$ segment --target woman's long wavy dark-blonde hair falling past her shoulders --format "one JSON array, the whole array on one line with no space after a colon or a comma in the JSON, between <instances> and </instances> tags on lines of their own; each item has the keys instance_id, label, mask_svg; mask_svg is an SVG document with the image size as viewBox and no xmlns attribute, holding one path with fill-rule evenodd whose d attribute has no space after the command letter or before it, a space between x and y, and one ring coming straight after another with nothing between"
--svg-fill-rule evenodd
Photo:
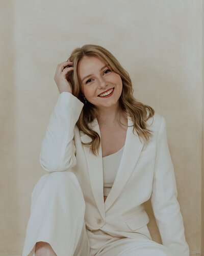
<instances>
[{"instance_id":1,"label":"woman's long wavy dark-blonde hair falling past her shoulders","mask_svg":"<svg viewBox=\"0 0 204 256\"><path fill-rule=\"evenodd\" d=\"M103 61L106 65L109 65L110 70L119 74L122 80L122 93L119 98L120 110L133 120L133 132L134 129L138 133L139 138L148 140L152 136L150 130L147 129L146 121L154 116L155 111L148 105L137 101L133 96L133 87L129 74L122 68L118 60L108 50L97 45L84 45L81 48L76 48L72 51L69 61L73 63L73 70L69 71L69 80L72 84L72 94L84 103L82 112L77 121L79 130L91 137L91 142L82 142L84 145L91 145L90 150L92 154L98 154L100 137L97 132L93 131L89 126L89 123L97 118L98 113L96 107L89 101L85 102L84 94L80 87L80 78L77 73L78 63L84 56L95 56ZM147 111L149 115L147 117ZM118 120L120 122L119 116Z\"/></svg>"}]
</instances>

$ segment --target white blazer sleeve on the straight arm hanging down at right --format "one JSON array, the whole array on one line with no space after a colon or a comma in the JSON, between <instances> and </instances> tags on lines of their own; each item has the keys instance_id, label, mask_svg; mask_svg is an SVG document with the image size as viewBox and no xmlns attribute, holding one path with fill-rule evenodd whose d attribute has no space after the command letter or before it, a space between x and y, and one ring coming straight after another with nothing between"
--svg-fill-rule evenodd
<instances>
[{"instance_id":1,"label":"white blazer sleeve on the straight arm hanging down at right","mask_svg":"<svg viewBox=\"0 0 204 256\"><path fill-rule=\"evenodd\" d=\"M167 142L166 122L164 117L161 118L161 126L157 137L151 205L163 245L172 251L172 255L189 256L183 218L177 201L177 188Z\"/></svg>"}]
</instances>

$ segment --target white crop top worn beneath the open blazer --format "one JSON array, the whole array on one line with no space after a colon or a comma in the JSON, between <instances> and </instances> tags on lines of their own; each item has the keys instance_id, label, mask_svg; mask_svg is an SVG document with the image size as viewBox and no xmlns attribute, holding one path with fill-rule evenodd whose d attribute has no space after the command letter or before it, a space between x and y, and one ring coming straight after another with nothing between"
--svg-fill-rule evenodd
<instances>
[{"instance_id":1,"label":"white crop top worn beneath the open blazer","mask_svg":"<svg viewBox=\"0 0 204 256\"><path fill-rule=\"evenodd\" d=\"M120 160L122 157L123 147L120 148L120 150L117 151L116 153L103 157L104 196L108 196L113 185L113 182L115 180Z\"/></svg>"}]
</instances>

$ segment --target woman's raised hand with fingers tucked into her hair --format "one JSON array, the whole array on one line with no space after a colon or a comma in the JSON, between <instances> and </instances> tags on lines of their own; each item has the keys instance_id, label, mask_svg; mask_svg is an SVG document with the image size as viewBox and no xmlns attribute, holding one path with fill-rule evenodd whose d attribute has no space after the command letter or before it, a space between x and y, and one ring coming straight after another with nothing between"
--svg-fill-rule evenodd
<instances>
[{"instance_id":1,"label":"woman's raised hand with fingers tucked into her hair","mask_svg":"<svg viewBox=\"0 0 204 256\"><path fill-rule=\"evenodd\" d=\"M68 72L73 70L73 67L67 67L71 65L72 65L71 61L64 61L62 63L59 63L57 66L54 80L57 84L60 94L62 92L69 92L72 94L72 85L68 78Z\"/></svg>"}]
</instances>

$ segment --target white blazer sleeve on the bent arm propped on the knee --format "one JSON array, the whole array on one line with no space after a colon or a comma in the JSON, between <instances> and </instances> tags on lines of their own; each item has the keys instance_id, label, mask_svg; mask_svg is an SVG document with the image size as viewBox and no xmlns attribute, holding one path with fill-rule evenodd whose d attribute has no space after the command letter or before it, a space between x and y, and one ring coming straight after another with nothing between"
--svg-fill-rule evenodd
<instances>
[{"instance_id":1,"label":"white blazer sleeve on the bent arm propped on the knee","mask_svg":"<svg viewBox=\"0 0 204 256\"><path fill-rule=\"evenodd\" d=\"M68 170L76 163L74 126L84 103L69 92L59 95L41 143L40 165L47 172Z\"/></svg>"}]
</instances>

